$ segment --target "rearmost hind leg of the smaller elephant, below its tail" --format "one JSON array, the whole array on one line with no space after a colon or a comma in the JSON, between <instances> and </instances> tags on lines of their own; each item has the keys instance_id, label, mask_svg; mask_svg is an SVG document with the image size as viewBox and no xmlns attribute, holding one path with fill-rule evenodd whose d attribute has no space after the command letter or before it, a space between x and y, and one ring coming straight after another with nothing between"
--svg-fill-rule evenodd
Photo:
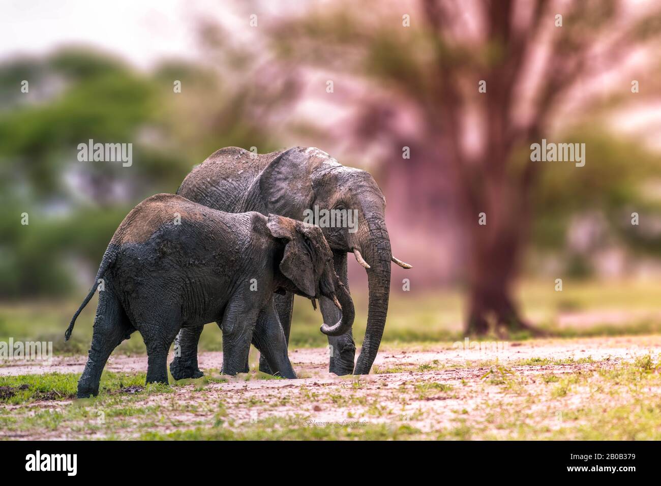
<instances>
[{"instance_id":1,"label":"rearmost hind leg of the smaller elephant, below its tail","mask_svg":"<svg viewBox=\"0 0 661 486\"><path fill-rule=\"evenodd\" d=\"M78 380L78 398L98 395L98 384L110 353L135 331L122 304L112 290L99 292L92 344L85 370Z\"/></svg>"}]
</instances>

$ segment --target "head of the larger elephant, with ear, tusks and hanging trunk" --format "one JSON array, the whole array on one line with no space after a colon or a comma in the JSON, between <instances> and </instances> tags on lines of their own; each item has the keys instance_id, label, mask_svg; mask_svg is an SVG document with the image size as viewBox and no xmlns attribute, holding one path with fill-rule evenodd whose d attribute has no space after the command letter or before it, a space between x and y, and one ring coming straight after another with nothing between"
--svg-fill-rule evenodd
<instances>
[{"instance_id":1,"label":"head of the larger elephant, with ear, tusks and hanging trunk","mask_svg":"<svg viewBox=\"0 0 661 486\"><path fill-rule=\"evenodd\" d=\"M366 269L368 323L354 373L368 374L385 327L391 262L411 268L391 253L379 186L368 172L344 167L313 147L280 153L255 183L268 212L319 225L334 253L345 263L346 254L353 253Z\"/></svg>"}]
</instances>

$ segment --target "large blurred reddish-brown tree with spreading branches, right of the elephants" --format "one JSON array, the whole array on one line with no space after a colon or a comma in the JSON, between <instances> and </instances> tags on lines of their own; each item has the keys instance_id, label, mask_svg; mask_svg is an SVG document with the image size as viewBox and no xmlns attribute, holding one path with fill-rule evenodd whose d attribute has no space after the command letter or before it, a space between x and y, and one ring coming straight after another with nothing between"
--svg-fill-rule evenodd
<instances>
[{"instance_id":1,"label":"large blurred reddish-brown tree with spreading branches, right of the elephants","mask_svg":"<svg viewBox=\"0 0 661 486\"><path fill-rule=\"evenodd\" d=\"M280 79L312 71L316 83L336 80L337 102L350 110L334 140L385 146L382 160L405 174L418 211L453 192L466 243L466 330L484 334L494 325L534 331L512 298L544 165L531 162L530 144L551 139L568 116L631 97L631 79L603 79L658 42L660 20L658 5L615 0L420 0L311 9L270 34ZM653 69L635 71L651 87L645 96L658 86ZM416 154L410 161L403 145Z\"/></svg>"}]
</instances>

